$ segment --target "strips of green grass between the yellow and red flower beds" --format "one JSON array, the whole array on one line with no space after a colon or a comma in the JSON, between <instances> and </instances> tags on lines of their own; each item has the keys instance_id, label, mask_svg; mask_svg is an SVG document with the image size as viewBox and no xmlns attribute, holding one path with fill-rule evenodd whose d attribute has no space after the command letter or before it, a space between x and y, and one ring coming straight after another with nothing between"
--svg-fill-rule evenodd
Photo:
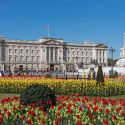
<instances>
[{"instance_id":1,"label":"strips of green grass between the yellow and red flower beds","mask_svg":"<svg viewBox=\"0 0 125 125\"><path fill-rule=\"evenodd\" d=\"M2 98L12 97L12 96L20 96L20 94L0 93L0 100L1 100ZM105 98L109 98L109 97L105 97ZM110 98L111 98L111 99L125 98L125 95L110 96Z\"/></svg>"}]
</instances>

